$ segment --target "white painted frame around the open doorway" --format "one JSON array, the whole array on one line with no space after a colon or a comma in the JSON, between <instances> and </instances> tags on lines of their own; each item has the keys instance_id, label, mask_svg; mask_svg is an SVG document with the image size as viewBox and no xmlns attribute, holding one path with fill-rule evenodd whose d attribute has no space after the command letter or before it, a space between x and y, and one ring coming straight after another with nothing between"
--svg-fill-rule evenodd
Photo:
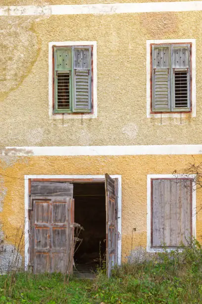
<instances>
[{"instance_id":1,"label":"white painted frame around the open doorway","mask_svg":"<svg viewBox=\"0 0 202 304\"><path fill-rule=\"evenodd\" d=\"M118 178L118 265L121 264L121 175L110 175L111 178ZM29 263L29 179L102 179L104 175L25 175L25 270Z\"/></svg>"}]
</instances>

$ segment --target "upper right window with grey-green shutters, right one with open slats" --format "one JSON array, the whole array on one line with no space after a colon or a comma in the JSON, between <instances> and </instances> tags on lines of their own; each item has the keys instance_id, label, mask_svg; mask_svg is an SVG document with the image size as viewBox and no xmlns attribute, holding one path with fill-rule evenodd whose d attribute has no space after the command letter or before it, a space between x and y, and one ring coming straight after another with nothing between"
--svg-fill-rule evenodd
<instances>
[{"instance_id":1,"label":"upper right window with grey-green shutters, right one with open slats","mask_svg":"<svg viewBox=\"0 0 202 304\"><path fill-rule=\"evenodd\" d=\"M152 113L191 111L191 46L151 44Z\"/></svg>"}]
</instances>

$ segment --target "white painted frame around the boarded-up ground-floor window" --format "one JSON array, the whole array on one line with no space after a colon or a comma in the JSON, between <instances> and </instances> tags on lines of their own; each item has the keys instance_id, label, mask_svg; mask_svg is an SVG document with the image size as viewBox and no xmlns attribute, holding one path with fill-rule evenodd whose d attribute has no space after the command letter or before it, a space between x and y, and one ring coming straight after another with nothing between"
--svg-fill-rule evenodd
<instances>
[{"instance_id":1,"label":"white painted frame around the boarded-up ground-floor window","mask_svg":"<svg viewBox=\"0 0 202 304\"><path fill-rule=\"evenodd\" d=\"M185 175L178 174L178 178L183 178ZM148 174L147 175L147 251L148 252L162 252L162 248L153 248L151 246L151 179L152 178L173 178L176 179L176 176L173 174ZM196 178L196 174L189 174L186 178ZM196 185L193 185L192 188L192 235L196 238ZM177 247L166 248L167 251L177 249Z\"/></svg>"}]
</instances>

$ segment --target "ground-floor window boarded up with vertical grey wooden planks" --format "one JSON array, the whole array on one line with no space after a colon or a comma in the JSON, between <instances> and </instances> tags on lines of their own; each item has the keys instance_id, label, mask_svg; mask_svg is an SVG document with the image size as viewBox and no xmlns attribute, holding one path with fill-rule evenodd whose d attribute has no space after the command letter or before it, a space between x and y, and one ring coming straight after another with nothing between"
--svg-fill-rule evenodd
<instances>
[{"instance_id":1,"label":"ground-floor window boarded up with vertical grey wooden planks","mask_svg":"<svg viewBox=\"0 0 202 304\"><path fill-rule=\"evenodd\" d=\"M192 179L151 179L151 247L187 245L192 238Z\"/></svg>"}]
</instances>

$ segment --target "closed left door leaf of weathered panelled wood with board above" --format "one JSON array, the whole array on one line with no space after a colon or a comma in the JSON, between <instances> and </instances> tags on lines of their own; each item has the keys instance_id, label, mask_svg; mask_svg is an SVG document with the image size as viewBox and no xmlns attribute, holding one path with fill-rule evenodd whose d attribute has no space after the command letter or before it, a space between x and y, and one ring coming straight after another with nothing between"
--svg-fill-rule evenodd
<instances>
[{"instance_id":1,"label":"closed left door leaf of weathered panelled wood with board above","mask_svg":"<svg viewBox=\"0 0 202 304\"><path fill-rule=\"evenodd\" d=\"M74 201L66 195L72 196L73 185L41 183L31 187L29 264L34 273L72 272Z\"/></svg>"}]
</instances>

